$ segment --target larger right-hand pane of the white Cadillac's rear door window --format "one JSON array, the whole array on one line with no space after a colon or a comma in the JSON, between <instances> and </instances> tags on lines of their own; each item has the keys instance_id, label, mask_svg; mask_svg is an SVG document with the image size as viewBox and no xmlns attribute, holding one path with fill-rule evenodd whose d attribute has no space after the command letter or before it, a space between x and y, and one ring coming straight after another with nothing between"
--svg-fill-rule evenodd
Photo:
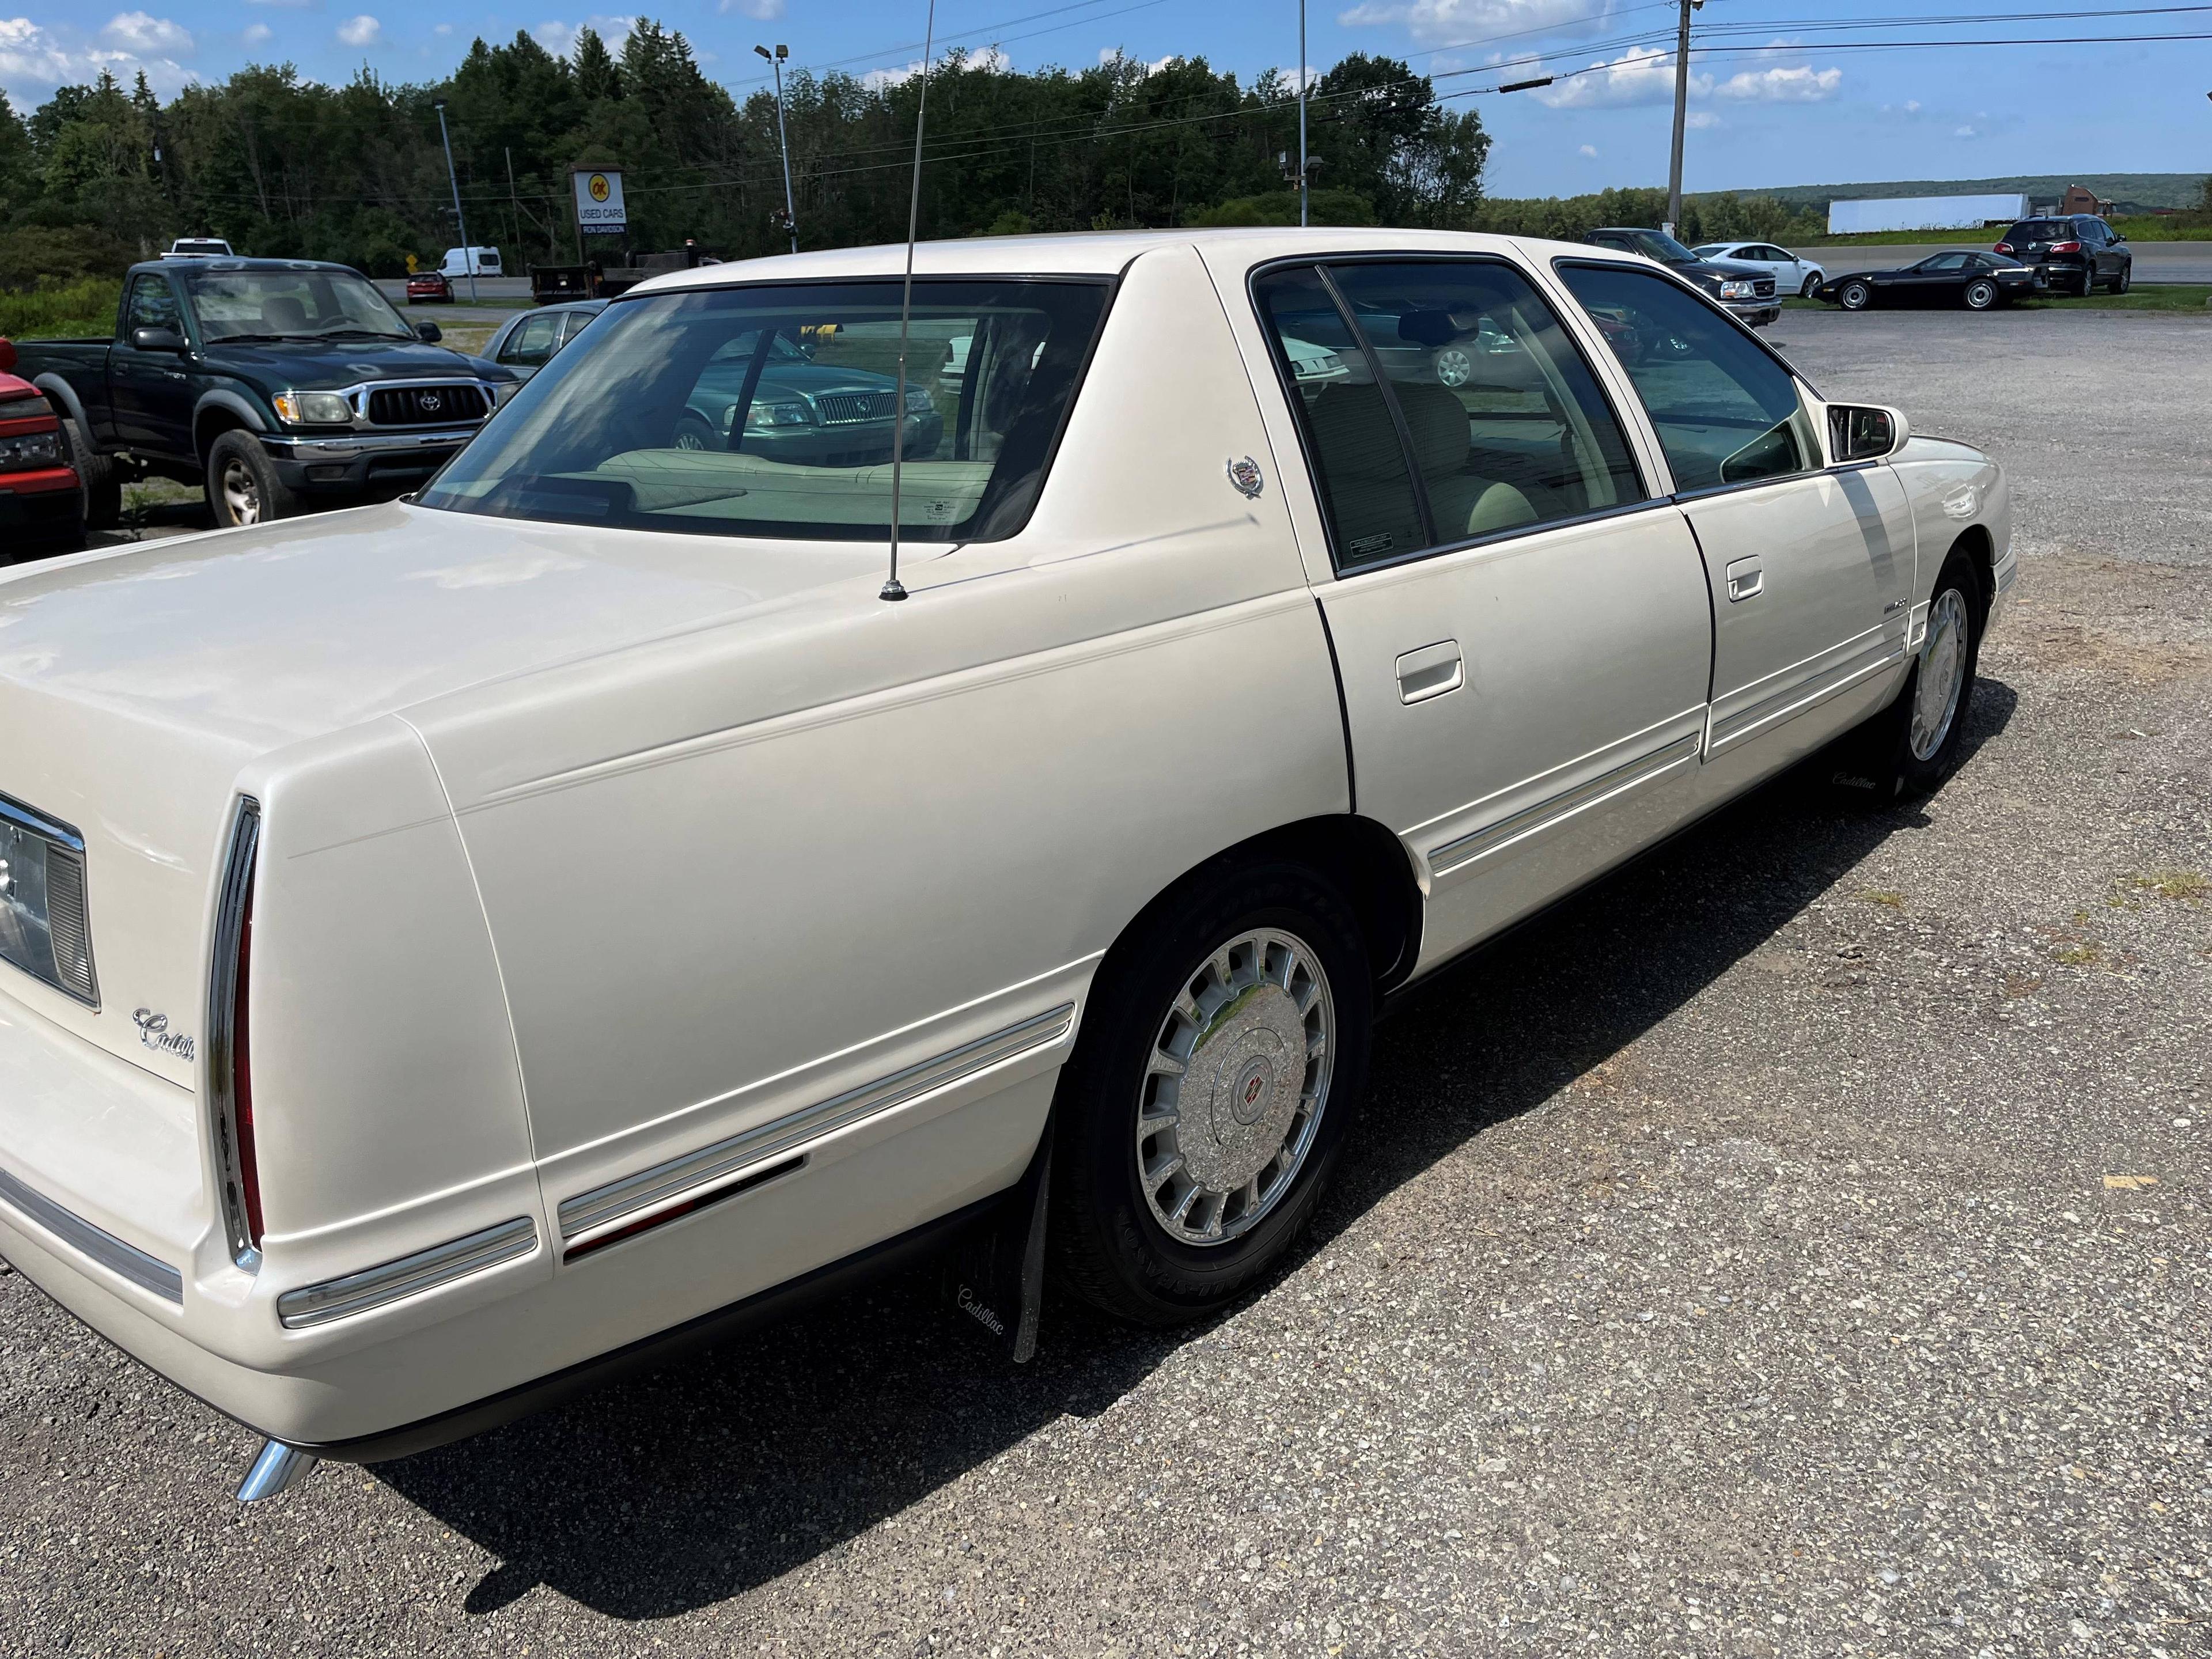
<instances>
[{"instance_id":1,"label":"larger right-hand pane of the white Cadillac's rear door window","mask_svg":"<svg viewBox=\"0 0 2212 1659\"><path fill-rule=\"evenodd\" d=\"M1595 376L1520 272L1422 261L1332 276L1398 403L1436 546L1644 500Z\"/></svg>"}]
</instances>

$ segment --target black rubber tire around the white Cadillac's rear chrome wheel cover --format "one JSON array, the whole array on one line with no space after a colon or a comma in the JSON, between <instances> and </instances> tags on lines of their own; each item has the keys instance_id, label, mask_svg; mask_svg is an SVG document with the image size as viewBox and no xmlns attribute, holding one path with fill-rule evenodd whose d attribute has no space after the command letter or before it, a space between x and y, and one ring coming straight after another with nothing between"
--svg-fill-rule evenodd
<instances>
[{"instance_id":1,"label":"black rubber tire around the white Cadillac's rear chrome wheel cover","mask_svg":"<svg viewBox=\"0 0 2212 1659\"><path fill-rule=\"evenodd\" d=\"M1146 1102L1157 1095L1150 1060L1175 1000L1206 978L1208 962L1223 945L1248 929L1294 936L1318 958L1334 1004L1332 1071L1303 1157L1283 1172L1279 1194L1272 1199L1263 1194L1252 1212L1259 1219L1223 1214L1219 1225L1245 1230L1221 1243L1186 1243L1161 1225L1146 1197L1137 1164L1137 1126ZM1254 984L1252 991L1256 989L1261 987ZM1239 995L1223 1006L1245 1006L1245 998ZM1219 1013L1221 1009L1214 1009L1214 1015ZM1263 1011L1254 1006L1254 1013ZM1367 1082L1371 1020L1374 975L1358 918L1343 894L1316 872L1292 863L1228 867L1192 878L1181 898L1157 905L1115 945L1099 969L1082 1035L1053 1102L1048 1237L1064 1283L1117 1318L1137 1325L1177 1325L1210 1314L1259 1281L1312 1219L1336 1168L1345 1128ZM1270 1124L1296 1095L1279 1093L1285 1084L1276 1079L1259 1046L1245 1060L1237 1060L1245 1053L1248 1040L1267 1042L1265 1020L1245 1026L1234 1046L1223 1051L1225 1057L1214 1062L1217 1082L1232 1077L1223 1066L1234 1062L1237 1068L1234 1088L1212 1095L1212 1113L1228 1108L1243 1121L1237 1102L1259 1099L1263 1102L1259 1121ZM1256 1079L1250 1086L1245 1071ZM1201 1073L1192 1064L1181 1082L1188 1084L1197 1075ZM1287 1079L1287 1073L1283 1077ZM1303 1064L1298 1077L1305 1079L1301 1088L1312 1084ZM1248 1093L1237 1095L1237 1088ZM1183 1119L1175 1121L1181 1128ZM1254 1144L1265 1144L1272 1133L1272 1126L1263 1128ZM1294 1126L1285 1133L1296 1139ZM1157 1141L1146 1146L1159 1150ZM1261 1175L1265 1177L1265 1168ZM1168 1192L1172 1190L1170 1179ZM1234 1197L1223 1199L1223 1212ZM1199 1212L1203 1203L1199 1201Z\"/></svg>"}]
</instances>

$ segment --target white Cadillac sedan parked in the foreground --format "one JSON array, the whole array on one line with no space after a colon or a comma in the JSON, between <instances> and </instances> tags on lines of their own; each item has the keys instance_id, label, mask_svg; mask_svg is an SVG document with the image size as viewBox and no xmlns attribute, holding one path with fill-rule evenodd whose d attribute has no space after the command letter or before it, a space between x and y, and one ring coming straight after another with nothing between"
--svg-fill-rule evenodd
<instances>
[{"instance_id":1,"label":"white Cadillac sedan parked in the foreground","mask_svg":"<svg viewBox=\"0 0 2212 1659\"><path fill-rule=\"evenodd\" d=\"M243 1495L1009 1203L1022 1314L1206 1314L1380 1000L1960 754L1997 467L1648 261L925 246L898 392L900 261L653 281L414 500L0 577L0 1252Z\"/></svg>"}]
</instances>

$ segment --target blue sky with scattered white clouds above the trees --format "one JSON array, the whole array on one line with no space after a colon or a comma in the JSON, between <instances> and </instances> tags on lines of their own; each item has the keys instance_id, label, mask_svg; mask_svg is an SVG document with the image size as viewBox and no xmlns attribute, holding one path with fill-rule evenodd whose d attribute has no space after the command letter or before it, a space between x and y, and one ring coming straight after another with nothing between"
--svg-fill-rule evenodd
<instances>
[{"instance_id":1,"label":"blue sky with scattered white clouds above the trees","mask_svg":"<svg viewBox=\"0 0 2212 1659\"><path fill-rule=\"evenodd\" d=\"M1708 0L1697 13L1699 38L1730 51L1692 55L1686 186L2212 168L2212 40L1874 49L1907 38L2212 35L2212 7L1927 27L1964 13L2152 2L2168 0ZM343 80L361 64L389 80L434 80L478 33L504 40L529 29L560 51L584 22L608 35L626 27L622 15L593 15L568 0L533 0L522 11L456 11L431 0L108 7L0 0L0 88L18 111L102 66L126 80L144 66L161 91L190 77L219 80L246 62L292 62L323 80ZM922 0L677 0L648 15L681 29L708 73L743 95L763 69L754 42L787 42L803 64L898 73L920 58L922 11ZM1546 88L1467 100L1495 135L1491 192L1666 184L1672 18L1670 0L1316 2L1305 60L1325 71L1349 51L1402 55L1440 75L1444 93L1562 75ZM1203 55L1239 75L1298 62L1296 0L940 0L938 35L969 49L995 44L1018 69L1091 64L1113 51L1144 62ZM1535 66L1511 66L1531 55Z\"/></svg>"}]
</instances>

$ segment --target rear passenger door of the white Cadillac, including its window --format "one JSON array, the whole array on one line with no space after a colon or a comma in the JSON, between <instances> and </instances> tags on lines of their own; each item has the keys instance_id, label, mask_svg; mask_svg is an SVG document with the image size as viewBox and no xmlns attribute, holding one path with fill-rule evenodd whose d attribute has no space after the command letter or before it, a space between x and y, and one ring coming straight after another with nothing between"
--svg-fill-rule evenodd
<instances>
[{"instance_id":1,"label":"rear passenger door of the white Cadillac, including its window","mask_svg":"<svg viewBox=\"0 0 2212 1659\"><path fill-rule=\"evenodd\" d=\"M1513 265L1338 259L1254 294L1329 533L1356 810L1416 858L1429 967L1683 816L1705 577Z\"/></svg>"}]
</instances>

